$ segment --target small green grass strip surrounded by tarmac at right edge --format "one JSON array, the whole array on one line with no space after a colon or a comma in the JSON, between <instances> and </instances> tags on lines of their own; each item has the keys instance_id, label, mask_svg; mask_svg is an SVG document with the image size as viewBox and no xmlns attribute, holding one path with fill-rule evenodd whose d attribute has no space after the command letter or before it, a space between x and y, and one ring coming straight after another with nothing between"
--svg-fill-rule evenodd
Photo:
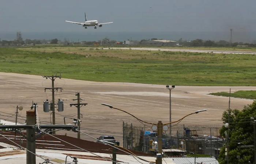
<instances>
[{"instance_id":1,"label":"small green grass strip surrounded by tarmac at right edge","mask_svg":"<svg viewBox=\"0 0 256 164\"><path fill-rule=\"evenodd\" d=\"M218 92L218 93L210 93L210 94L229 97L229 93L227 93L227 92ZM236 98L256 99L256 91L255 90L240 90L235 93L231 93L230 95L231 95L231 97L236 97Z\"/></svg>"}]
</instances>

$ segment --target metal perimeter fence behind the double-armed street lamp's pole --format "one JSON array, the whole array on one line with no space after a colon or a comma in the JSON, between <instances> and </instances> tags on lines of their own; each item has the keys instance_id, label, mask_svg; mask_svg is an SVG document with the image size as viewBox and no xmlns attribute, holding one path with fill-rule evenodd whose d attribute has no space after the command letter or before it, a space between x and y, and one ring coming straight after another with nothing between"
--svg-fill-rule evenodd
<instances>
[{"instance_id":1,"label":"metal perimeter fence behind the double-armed street lamp's pole","mask_svg":"<svg viewBox=\"0 0 256 164\"><path fill-rule=\"evenodd\" d=\"M197 153L218 157L224 139L220 137L219 129L222 125L190 125L173 126L172 135L163 132L163 149L181 149L187 153ZM150 140L157 141L157 132L145 126L134 126L123 122L124 148L152 152Z\"/></svg>"}]
</instances>

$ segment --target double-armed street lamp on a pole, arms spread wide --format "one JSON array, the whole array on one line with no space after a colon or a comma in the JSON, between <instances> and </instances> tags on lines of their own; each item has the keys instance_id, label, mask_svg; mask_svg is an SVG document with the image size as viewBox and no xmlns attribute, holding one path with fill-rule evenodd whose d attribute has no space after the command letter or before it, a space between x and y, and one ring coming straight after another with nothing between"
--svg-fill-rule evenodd
<instances>
[{"instance_id":1,"label":"double-armed street lamp on a pole, arms spread wide","mask_svg":"<svg viewBox=\"0 0 256 164\"><path fill-rule=\"evenodd\" d=\"M105 104L105 103L101 103L101 105L105 105L105 106L108 106L109 108L113 108L113 109L117 109L117 110L120 110L122 112L125 112L129 115L131 115L132 117L136 118L137 120L139 120L140 122L145 122L147 124L152 124L154 127L156 127L155 125L157 125L157 138L158 138L158 153L157 153L157 164L162 164L162 133L163 133L163 127L167 124L172 124L172 123L175 123L175 122L178 122L178 121L181 121L183 120L185 117L188 117L189 115L192 115L192 114L197 114L199 112L204 112L206 111L207 109L203 109L203 110L197 110L196 112L194 113L190 113L190 114L187 114L186 116L182 117L181 119L177 120L177 121L173 121L173 122L168 122L166 124L162 124L162 121L158 121L158 124L154 124L154 123L151 123L151 122L146 122L146 121L143 121L143 120L140 120L139 118L133 116L131 113L128 113L124 110L121 110L121 109L118 109L118 108L114 108L112 105L109 105L109 104ZM153 128L152 126L152 128ZM156 130L156 129L155 129Z\"/></svg>"}]
</instances>

